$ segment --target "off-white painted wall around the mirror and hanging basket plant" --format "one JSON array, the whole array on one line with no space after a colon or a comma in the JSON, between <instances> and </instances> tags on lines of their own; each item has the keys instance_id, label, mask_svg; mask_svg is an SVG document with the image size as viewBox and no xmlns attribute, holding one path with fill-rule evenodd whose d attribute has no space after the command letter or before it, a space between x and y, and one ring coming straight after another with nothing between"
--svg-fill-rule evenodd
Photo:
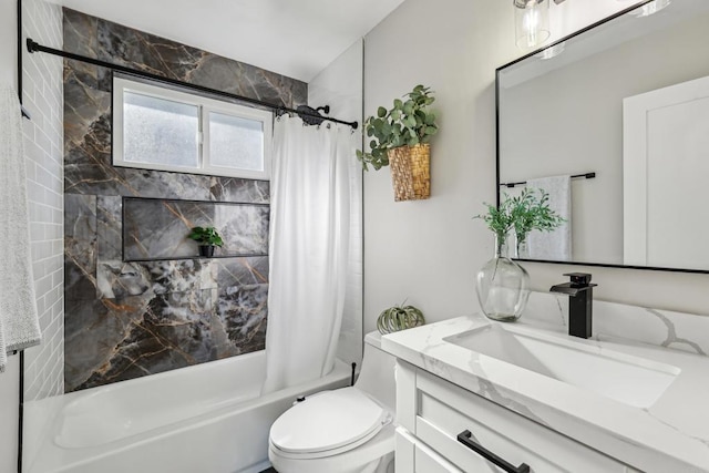
<instances>
[{"instance_id":1,"label":"off-white painted wall around the mirror and hanging basket plant","mask_svg":"<svg viewBox=\"0 0 709 473\"><path fill-rule=\"evenodd\" d=\"M628 3L569 0L555 11L558 38ZM495 199L495 69L522 55L511 2L408 0L366 38L364 113L389 106L417 83L436 91L440 134L432 147L432 196L394 203L389 169L364 181L366 330L409 298L429 321L479 310L474 275L493 236L471 217ZM709 313L707 275L525 264L535 289L588 270L598 299Z\"/></svg>"}]
</instances>

